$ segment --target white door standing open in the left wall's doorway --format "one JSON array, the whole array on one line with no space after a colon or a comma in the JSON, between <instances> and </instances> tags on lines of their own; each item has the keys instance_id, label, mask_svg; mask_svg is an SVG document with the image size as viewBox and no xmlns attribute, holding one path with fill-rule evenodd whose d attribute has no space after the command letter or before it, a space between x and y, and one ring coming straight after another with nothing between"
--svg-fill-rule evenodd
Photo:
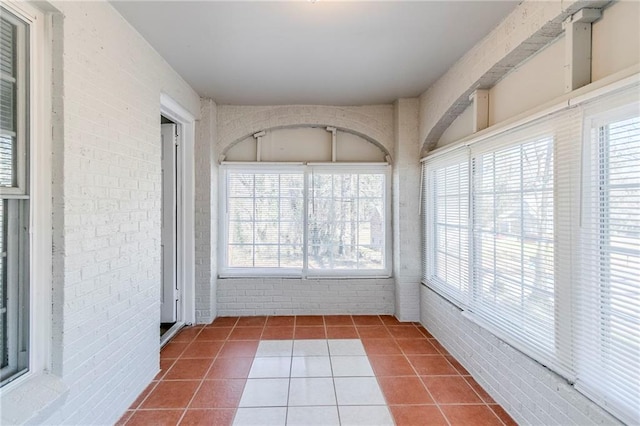
<instances>
[{"instance_id":1,"label":"white door standing open in the left wall's doorway","mask_svg":"<svg viewBox=\"0 0 640 426\"><path fill-rule=\"evenodd\" d=\"M162 292L160 322L176 322L177 280L177 133L175 124L162 125Z\"/></svg>"}]
</instances>

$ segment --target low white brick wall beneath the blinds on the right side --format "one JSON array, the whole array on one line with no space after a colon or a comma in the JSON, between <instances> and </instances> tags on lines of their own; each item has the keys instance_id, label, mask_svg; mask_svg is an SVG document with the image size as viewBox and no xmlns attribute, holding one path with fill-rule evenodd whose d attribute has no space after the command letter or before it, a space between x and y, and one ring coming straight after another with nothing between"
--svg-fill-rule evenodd
<instances>
[{"instance_id":1,"label":"low white brick wall beneath the blinds on the right side","mask_svg":"<svg viewBox=\"0 0 640 426\"><path fill-rule=\"evenodd\" d=\"M519 424L619 424L565 379L464 318L425 286L421 304L425 328Z\"/></svg>"}]
</instances>

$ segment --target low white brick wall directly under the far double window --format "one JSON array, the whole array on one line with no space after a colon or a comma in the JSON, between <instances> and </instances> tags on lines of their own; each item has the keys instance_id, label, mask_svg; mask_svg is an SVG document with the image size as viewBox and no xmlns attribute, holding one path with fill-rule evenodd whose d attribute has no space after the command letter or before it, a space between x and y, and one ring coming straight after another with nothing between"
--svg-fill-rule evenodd
<instances>
[{"instance_id":1,"label":"low white brick wall directly under the far double window","mask_svg":"<svg viewBox=\"0 0 640 426\"><path fill-rule=\"evenodd\" d=\"M394 280L218 279L218 315L393 314Z\"/></svg>"}]
</instances>

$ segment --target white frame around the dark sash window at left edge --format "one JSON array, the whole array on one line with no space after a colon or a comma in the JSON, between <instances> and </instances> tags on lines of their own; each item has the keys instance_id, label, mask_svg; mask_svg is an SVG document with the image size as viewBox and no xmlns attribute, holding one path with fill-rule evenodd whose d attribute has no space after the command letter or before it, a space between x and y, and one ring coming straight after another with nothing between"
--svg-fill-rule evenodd
<instances>
[{"instance_id":1,"label":"white frame around the dark sash window at left edge","mask_svg":"<svg viewBox=\"0 0 640 426\"><path fill-rule=\"evenodd\" d=\"M26 2L4 2L29 25L29 363L0 389L4 400L50 369L51 362L51 15ZM48 70L48 71L46 71ZM26 163L25 163L26 165ZM25 187L26 188L26 187ZM3 195L5 192L3 191ZM8 398L7 398L8 399ZM3 403L4 409L4 403Z\"/></svg>"}]
</instances>

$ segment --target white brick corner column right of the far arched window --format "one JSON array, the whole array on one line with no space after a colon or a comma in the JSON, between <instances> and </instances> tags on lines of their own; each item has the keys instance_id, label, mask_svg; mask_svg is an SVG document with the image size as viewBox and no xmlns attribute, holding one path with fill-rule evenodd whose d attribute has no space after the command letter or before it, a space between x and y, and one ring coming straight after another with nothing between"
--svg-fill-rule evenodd
<instances>
[{"instance_id":1,"label":"white brick corner column right of the far arched window","mask_svg":"<svg viewBox=\"0 0 640 426\"><path fill-rule=\"evenodd\" d=\"M396 317L420 320L421 241L419 100L395 105L393 150L393 272Z\"/></svg>"}]
</instances>

